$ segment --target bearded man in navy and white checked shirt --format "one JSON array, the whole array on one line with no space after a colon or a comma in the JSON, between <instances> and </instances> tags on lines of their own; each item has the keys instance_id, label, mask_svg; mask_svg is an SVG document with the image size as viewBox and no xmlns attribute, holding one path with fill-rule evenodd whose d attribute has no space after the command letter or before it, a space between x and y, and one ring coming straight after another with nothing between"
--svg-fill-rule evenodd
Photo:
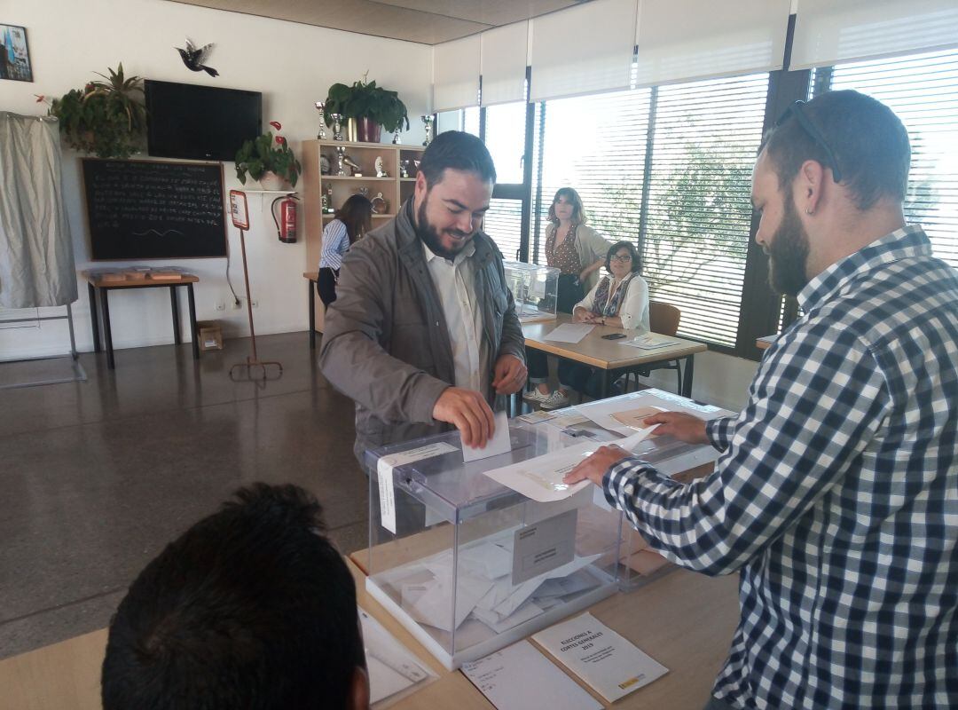
<instances>
[{"instance_id":1,"label":"bearded man in navy and white checked shirt","mask_svg":"<svg viewBox=\"0 0 958 710\"><path fill-rule=\"evenodd\" d=\"M804 315L680 485L618 447L588 477L666 558L741 572L708 708L958 707L958 277L902 202L899 119L853 91L796 103L753 173L770 281Z\"/></svg>"}]
</instances>

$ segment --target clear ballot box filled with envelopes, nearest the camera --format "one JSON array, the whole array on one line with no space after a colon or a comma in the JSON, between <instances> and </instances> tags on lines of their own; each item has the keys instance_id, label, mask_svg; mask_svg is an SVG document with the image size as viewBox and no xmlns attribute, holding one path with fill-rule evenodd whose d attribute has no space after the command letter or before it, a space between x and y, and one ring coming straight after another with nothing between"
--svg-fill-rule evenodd
<instances>
[{"instance_id":1,"label":"clear ballot box filled with envelopes, nearest the camera","mask_svg":"<svg viewBox=\"0 0 958 710\"><path fill-rule=\"evenodd\" d=\"M618 589L621 515L596 534L594 487L541 503L484 474L582 440L521 422L510 437L469 463L458 432L366 452L366 590L450 670Z\"/></svg>"}]
</instances>

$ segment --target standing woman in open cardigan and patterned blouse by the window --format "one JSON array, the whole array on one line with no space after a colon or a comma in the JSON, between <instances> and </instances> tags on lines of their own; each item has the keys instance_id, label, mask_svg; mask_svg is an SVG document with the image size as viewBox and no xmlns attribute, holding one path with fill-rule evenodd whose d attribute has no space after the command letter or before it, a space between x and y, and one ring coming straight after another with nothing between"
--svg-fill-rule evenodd
<instances>
[{"instance_id":1,"label":"standing woman in open cardigan and patterned blouse by the window","mask_svg":"<svg viewBox=\"0 0 958 710\"><path fill-rule=\"evenodd\" d=\"M582 197L572 188L560 188L549 206L545 232L545 260L559 269L559 297L556 309L571 313L577 303L599 281L599 269L605 263L609 242L585 224ZM545 353L526 350L529 381L532 390L524 395L528 401L544 402L550 397L549 361Z\"/></svg>"}]
</instances>

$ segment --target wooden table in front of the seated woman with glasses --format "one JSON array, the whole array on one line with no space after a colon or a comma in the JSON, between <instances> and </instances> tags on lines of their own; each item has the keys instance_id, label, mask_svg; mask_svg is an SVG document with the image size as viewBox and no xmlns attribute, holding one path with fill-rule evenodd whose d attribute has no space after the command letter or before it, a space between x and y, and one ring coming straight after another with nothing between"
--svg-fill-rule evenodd
<instances>
[{"instance_id":1,"label":"wooden table in front of the seated woman with glasses","mask_svg":"<svg viewBox=\"0 0 958 710\"><path fill-rule=\"evenodd\" d=\"M621 341L618 340L603 340L602 336L610 332L627 332L621 328L612 328L611 326L593 327L592 331L578 343L560 343L545 339L546 335L559 328L560 325L572 322L571 315L559 313L555 320L524 324L522 334L526 337L526 347L598 368L602 372L600 399L608 396L609 385L615 377L627 370L633 370L644 365L668 362L669 360L684 359L682 391L678 394L682 397L692 397L695 355L708 350L704 343L684 340L670 335L670 339L678 341L677 345L669 345L652 351L639 350L638 348L621 345Z\"/></svg>"}]
</instances>

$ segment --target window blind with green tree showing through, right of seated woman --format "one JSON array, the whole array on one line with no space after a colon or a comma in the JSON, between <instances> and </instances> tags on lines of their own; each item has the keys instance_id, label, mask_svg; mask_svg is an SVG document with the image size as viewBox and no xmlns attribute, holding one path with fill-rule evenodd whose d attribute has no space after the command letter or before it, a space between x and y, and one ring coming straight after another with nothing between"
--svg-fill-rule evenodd
<instances>
[{"instance_id":1,"label":"window blind with green tree showing through, right of seated woman","mask_svg":"<svg viewBox=\"0 0 958 710\"><path fill-rule=\"evenodd\" d=\"M679 334L734 348L768 75L658 89L643 273Z\"/></svg>"}]
</instances>

